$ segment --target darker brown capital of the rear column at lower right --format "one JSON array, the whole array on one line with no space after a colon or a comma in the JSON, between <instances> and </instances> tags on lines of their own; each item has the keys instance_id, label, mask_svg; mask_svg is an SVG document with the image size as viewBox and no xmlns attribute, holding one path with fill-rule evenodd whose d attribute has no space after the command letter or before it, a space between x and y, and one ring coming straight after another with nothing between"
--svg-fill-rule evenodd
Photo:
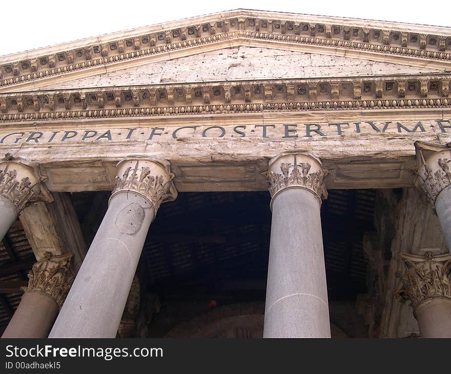
<instances>
[{"instance_id":1,"label":"darker brown capital of the rear column at lower right","mask_svg":"<svg viewBox=\"0 0 451 374\"><path fill-rule=\"evenodd\" d=\"M403 272L396 275L402 283L395 291L401 302L409 300L415 308L429 298L441 297L451 300L451 255L424 256L401 255Z\"/></svg>"}]
</instances>

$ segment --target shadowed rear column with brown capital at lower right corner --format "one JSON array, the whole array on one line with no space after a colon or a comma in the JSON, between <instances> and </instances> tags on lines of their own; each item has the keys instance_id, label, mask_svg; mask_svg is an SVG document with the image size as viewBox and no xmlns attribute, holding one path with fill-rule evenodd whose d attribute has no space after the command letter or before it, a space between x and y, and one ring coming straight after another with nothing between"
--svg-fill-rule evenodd
<instances>
[{"instance_id":1,"label":"shadowed rear column with brown capital at lower right corner","mask_svg":"<svg viewBox=\"0 0 451 374\"><path fill-rule=\"evenodd\" d=\"M401 255L395 295L410 301L423 338L451 338L451 255Z\"/></svg>"}]
</instances>

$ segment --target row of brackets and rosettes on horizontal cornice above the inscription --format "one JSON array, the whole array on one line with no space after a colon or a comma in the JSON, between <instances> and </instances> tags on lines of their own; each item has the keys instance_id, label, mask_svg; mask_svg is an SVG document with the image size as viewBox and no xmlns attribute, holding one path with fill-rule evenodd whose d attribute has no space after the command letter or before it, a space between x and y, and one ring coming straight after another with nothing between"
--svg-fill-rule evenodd
<instances>
[{"instance_id":1,"label":"row of brackets and rosettes on horizontal cornice above the inscription","mask_svg":"<svg viewBox=\"0 0 451 374\"><path fill-rule=\"evenodd\" d=\"M447 98L451 74L218 81L0 94L2 113L60 109L282 103L319 100Z\"/></svg>"}]
</instances>

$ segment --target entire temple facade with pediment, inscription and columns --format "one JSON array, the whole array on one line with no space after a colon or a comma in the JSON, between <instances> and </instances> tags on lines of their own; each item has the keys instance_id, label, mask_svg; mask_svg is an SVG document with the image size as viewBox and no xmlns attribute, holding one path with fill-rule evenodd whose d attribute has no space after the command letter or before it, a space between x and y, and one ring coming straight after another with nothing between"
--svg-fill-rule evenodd
<instances>
[{"instance_id":1,"label":"entire temple facade with pediment, inscription and columns","mask_svg":"<svg viewBox=\"0 0 451 374\"><path fill-rule=\"evenodd\" d=\"M0 56L3 337L451 337L450 80L250 10Z\"/></svg>"}]
</instances>

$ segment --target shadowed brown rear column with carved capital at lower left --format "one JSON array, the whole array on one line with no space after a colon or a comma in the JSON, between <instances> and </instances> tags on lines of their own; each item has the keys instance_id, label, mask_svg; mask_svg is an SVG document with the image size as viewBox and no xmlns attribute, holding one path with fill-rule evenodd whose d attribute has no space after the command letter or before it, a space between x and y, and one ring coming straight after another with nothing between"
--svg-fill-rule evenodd
<instances>
[{"instance_id":1,"label":"shadowed brown rear column with carved capital at lower left","mask_svg":"<svg viewBox=\"0 0 451 374\"><path fill-rule=\"evenodd\" d=\"M28 286L2 338L47 338L70 288L72 254L50 252L28 274Z\"/></svg>"}]
</instances>

